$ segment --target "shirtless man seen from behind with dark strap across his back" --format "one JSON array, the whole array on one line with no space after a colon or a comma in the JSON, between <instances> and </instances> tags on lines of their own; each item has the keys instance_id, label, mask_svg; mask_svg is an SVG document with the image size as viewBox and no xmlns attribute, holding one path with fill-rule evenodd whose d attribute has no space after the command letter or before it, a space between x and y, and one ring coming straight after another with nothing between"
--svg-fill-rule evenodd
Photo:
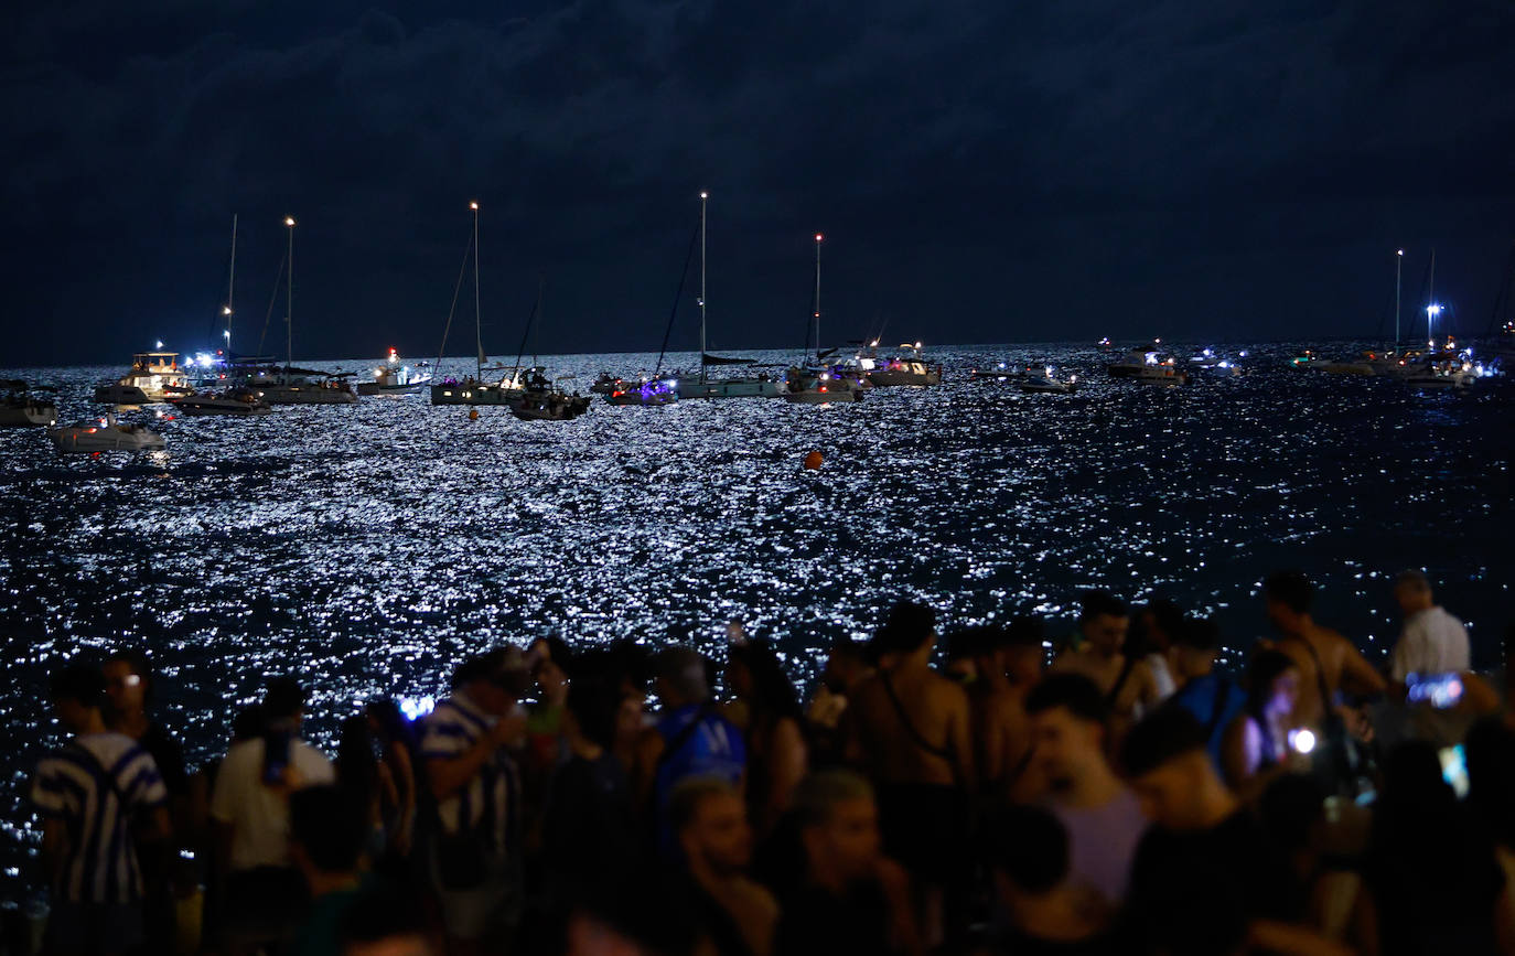
<instances>
[{"instance_id":1,"label":"shirtless man seen from behind with dark strap across his back","mask_svg":"<svg viewBox=\"0 0 1515 956\"><path fill-rule=\"evenodd\" d=\"M873 638L880 661L847 709L848 758L877 786L885 851L926 889L929 930L971 867L968 795L974 762L968 692L932 670L935 612L901 603Z\"/></svg>"}]
</instances>

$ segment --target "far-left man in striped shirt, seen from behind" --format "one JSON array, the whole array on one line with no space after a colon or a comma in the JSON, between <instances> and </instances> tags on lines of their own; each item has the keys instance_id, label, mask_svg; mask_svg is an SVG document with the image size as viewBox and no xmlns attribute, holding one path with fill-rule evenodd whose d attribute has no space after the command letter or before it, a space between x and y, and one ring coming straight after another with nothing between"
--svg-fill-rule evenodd
<instances>
[{"instance_id":1,"label":"far-left man in striped shirt, seen from behind","mask_svg":"<svg viewBox=\"0 0 1515 956\"><path fill-rule=\"evenodd\" d=\"M106 729L100 668L70 662L53 674L50 691L70 739L42 758L32 777L53 894L47 951L132 951L142 944L138 842L167 848L168 791L153 758Z\"/></svg>"}]
</instances>

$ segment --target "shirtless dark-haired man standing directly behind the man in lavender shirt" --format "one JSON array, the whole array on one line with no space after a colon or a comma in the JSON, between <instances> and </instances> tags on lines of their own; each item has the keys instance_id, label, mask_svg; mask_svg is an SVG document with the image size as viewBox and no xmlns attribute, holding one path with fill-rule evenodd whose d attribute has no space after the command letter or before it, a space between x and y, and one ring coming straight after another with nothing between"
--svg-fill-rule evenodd
<instances>
[{"instance_id":1,"label":"shirtless dark-haired man standing directly behind the man in lavender shirt","mask_svg":"<svg viewBox=\"0 0 1515 956\"><path fill-rule=\"evenodd\" d=\"M1057 673L1083 674L1104 694L1110 705L1112 753L1136 718L1162 698L1151 667L1145 661L1127 659L1123 651L1130 624L1126 601L1109 591L1085 592L1079 635L1051 665Z\"/></svg>"}]
</instances>

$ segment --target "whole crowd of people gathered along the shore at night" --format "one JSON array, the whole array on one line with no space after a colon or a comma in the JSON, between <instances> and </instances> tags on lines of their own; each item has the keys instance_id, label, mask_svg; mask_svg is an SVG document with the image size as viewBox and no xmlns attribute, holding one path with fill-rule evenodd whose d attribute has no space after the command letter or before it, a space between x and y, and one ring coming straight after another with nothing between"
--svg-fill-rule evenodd
<instances>
[{"instance_id":1,"label":"whole crowd of people gathered along the shore at night","mask_svg":"<svg viewBox=\"0 0 1515 956\"><path fill-rule=\"evenodd\" d=\"M52 680L30 782L48 953L1515 953L1509 677L1395 579L1385 667L1264 582L1276 635L1082 598L938 635L900 603L807 700L721 655L538 639L329 756L274 677L188 773L123 650ZM1509 670L1506 670L1506 674Z\"/></svg>"}]
</instances>

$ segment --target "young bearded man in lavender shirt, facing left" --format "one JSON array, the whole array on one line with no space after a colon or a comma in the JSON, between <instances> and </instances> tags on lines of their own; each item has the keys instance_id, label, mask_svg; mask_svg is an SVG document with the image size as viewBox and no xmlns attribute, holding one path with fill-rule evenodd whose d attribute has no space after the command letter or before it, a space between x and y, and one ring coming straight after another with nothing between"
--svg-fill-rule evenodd
<instances>
[{"instance_id":1,"label":"young bearded man in lavender shirt, facing left","mask_svg":"<svg viewBox=\"0 0 1515 956\"><path fill-rule=\"evenodd\" d=\"M1048 674L1026 712L1047 804L1068 830L1070 876L1117 906L1147 821L1104 756L1109 701L1082 674Z\"/></svg>"}]
</instances>

